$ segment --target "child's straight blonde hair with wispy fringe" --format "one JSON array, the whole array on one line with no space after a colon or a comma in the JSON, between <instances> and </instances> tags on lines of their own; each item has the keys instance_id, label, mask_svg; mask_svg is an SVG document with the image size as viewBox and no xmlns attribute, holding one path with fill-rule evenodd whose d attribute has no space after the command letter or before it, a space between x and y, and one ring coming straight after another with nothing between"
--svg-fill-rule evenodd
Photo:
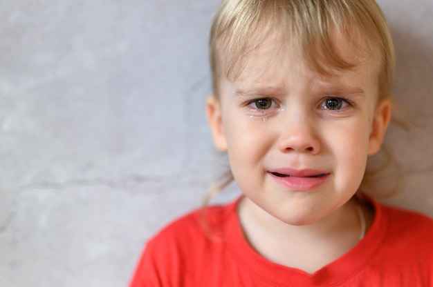
<instances>
[{"instance_id":1,"label":"child's straight blonde hair with wispy fringe","mask_svg":"<svg viewBox=\"0 0 433 287\"><path fill-rule=\"evenodd\" d=\"M210 32L214 95L219 96L220 77L237 77L241 59L271 33L282 45L295 45L307 63L324 75L329 73L329 67L353 68L356 59L344 59L334 46L335 31L365 56L373 49L379 51L382 61L378 75L379 100L390 99L394 45L383 12L374 0L224 0ZM369 50L362 51L360 47L366 45ZM363 184L372 186L367 177L380 170L366 172ZM224 175L212 189L219 191L230 180L232 177Z\"/></svg>"}]
</instances>

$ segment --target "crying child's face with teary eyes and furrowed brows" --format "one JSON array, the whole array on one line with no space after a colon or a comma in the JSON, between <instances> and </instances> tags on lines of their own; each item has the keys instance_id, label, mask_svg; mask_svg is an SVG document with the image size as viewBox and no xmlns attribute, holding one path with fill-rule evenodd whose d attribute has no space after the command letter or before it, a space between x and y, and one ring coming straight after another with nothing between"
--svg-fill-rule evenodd
<instances>
[{"instance_id":1,"label":"crying child's face with teary eyes and furrowed brows","mask_svg":"<svg viewBox=\"0 0 433 287\"><path fill-rule=\"evenodd\" d=\"M344 42L344 57L360 57ZM330 77L273 41L245 60L208 101L216 146L255 205L288 224L319 221L355 194L382 143L390 105L378 103L378 52Z\"/></svg>"}]
</instances>

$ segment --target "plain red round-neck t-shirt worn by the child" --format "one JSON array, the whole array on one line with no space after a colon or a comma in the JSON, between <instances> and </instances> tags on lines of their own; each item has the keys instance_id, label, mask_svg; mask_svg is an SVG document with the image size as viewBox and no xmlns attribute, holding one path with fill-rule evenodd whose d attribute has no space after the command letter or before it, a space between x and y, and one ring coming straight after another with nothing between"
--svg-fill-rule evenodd
<instances>
[{"instance_id":1,"label":"plain red round-neck t-shirt worn by the child","mask_svg":"<svg viewBox=\"0 0 433 287\"><path fill-rule=\"evenodd\" d=\"M348 253L313 274L268 261L244 239L236 201L200 210L151 239L130 287L433 287L433 220L372 201L374 223ZM206 230L212 230L207 232Z\"/></svg>"}]
</instances>

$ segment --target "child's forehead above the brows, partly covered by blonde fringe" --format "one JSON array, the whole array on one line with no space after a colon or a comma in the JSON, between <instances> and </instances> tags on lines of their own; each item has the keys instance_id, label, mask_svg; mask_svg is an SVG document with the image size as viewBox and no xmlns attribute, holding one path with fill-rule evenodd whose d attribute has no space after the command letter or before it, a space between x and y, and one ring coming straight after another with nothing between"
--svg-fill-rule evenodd
<instances>
[{"instance_id":1,"label":"child's forehead above the brows, partly covered by blonde fringe","mask_svg":"<svg viewBox=\"0 0 433 287\"><path fill-rule=\"evenodd\" d=\"M276 80L284 69L311 70L317 78L335 79L350 73L368 72L378 77L382 61L380 50L359 31L353 37L333 30L328 45L305 45L300 37L282 37L279 32L261 29L237 57L221 57L222 75L229 81ZM224 55L221 55L224 56Z\"/></svg>"}]
</instances>

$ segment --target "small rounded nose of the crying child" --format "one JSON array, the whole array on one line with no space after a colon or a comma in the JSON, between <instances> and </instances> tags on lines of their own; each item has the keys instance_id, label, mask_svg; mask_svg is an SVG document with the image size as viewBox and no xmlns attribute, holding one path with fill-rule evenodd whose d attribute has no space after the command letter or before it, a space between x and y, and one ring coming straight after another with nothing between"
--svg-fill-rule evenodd
<instances>
[{"instance_id":1,"label":"small rounded nose of the crying child","mask_svg":"<svg viewBox=\"0 0 433 287\"><path fill-rule=\"evenodd\" d=\"M312 117L289 115L282 125L278 148L282 152L301 152L315 155L320 152L320 139Z\"/></svg>"}]
</instances>

